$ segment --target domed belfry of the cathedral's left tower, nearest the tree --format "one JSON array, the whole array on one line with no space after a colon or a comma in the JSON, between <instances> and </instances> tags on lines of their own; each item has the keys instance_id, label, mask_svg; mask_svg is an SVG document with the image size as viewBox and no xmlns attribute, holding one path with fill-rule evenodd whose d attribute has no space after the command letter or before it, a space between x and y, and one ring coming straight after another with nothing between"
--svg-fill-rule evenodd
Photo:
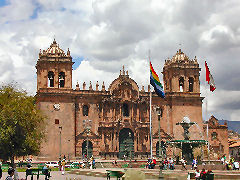
<instances>
[{"instance_id":1,"label":"domed belfry of the cathedral's left tower, nearest the tree","mask_svg":"<svg viewBox=\"0 0 240 180\"><path fill-rule=\"evenodd\" d=\"M65 54L54 39L47 50L39 52L37 91L72 89L72 65L69 49Z\"/></svg>"}]
</instances>

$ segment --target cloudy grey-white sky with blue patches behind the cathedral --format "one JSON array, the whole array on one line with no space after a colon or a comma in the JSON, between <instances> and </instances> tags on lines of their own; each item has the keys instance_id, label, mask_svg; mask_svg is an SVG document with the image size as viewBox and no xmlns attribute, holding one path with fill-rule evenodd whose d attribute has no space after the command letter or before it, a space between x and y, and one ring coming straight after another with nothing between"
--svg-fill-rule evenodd
<instances>
[{"instance_id":1,"label":"cloudy grey-white sky with blue patches behind the cathedral","mask_svg":"<svg viewBox=\"0 0 240 180\"><path fill-rule=\"evenodd\" d=\"M0 7L0 81L36 91L39 49L55 37L65 52L84 61L73 71L73 87L96 81L106 88L122 65L139 88L149 80L148 50L162 79L164 60L178 48L196 55L204 82L207 60L217 89L208 95L209 114L236 120L240 105L240 2L158 0L9 0ZM33 17L34 16L34 17ZM182 44L179 46L179 44ZM91 74L89 76L89 74ZM202 96L205 90L201 87ZM204 100L205 101L205 100ZM203 116L205 107L203 105Z\"/></svg>"}]
</instances>

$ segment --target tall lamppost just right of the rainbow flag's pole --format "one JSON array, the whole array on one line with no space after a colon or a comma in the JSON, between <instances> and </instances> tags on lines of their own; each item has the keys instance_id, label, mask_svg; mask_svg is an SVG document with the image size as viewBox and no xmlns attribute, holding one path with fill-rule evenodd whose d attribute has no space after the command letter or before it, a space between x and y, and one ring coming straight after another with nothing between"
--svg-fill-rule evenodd
<instances>
[{"instance_id":1,"label":"tall lamppost just right of the rainbow flag's pole","mask_svg":"<svg viewBox=\"0 0 240 180\"><path fill-rule=\"evenodd\" d=\"M162 147L161 147L161 133L160 133L160 119L162 117L162 109L161 108L157 108L156 109L157 113L158 113L158 138L159 138L159 177L158 179L163 179L163 173L162 173Z\"/></svg>"}]
</instances>

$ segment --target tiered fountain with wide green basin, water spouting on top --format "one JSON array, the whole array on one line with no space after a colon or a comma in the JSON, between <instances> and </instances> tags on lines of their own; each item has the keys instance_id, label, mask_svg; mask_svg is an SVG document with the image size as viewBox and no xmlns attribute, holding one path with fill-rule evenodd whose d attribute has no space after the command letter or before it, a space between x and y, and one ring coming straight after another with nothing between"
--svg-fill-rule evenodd
<instances>
[{"instance_id":1,"label":"tiered fountain with wide green basin, water spouting on top","mask_svg":"<svg viewBox=\"0 0 240 180\"><path fill-rule=\"evenodd\" d=\"M207 141L205 140L190 140L189 129L194 124L197 124L197 123L191 122L190 119L185 116L181 122L176 123L176 125L182 126L184 130L183 132L184 140L168 141L170 145L181 149L182 157L184 157L185 160L188 162L192 161L193 159L194 148L207 144Z\"/></svg>"}]
</instances>

